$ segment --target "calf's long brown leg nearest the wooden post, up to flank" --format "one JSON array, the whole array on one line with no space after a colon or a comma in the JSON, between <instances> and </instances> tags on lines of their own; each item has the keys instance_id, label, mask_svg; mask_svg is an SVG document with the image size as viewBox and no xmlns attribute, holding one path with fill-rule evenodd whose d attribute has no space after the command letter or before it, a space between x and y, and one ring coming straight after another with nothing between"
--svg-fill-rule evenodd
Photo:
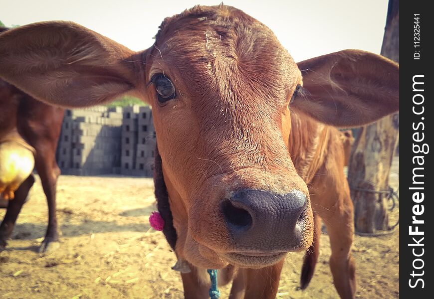
<instances>
[{"instance_id":1,"label":"calf's long brown leg nearest the wooden post, up to flank","mask_svg":"<svg viewBox=\"0 0 434 299\"><path fill-rule=\"evenodd\" d=\"M335 131L335 133L338 133ZM330 237L330 269L339 296L355 298L356 267L351 257L354 208L344 174L344 152L339 134L331 132L328 155L309 184L312 210L327 227Z\"/></svg>"}]
</instances>

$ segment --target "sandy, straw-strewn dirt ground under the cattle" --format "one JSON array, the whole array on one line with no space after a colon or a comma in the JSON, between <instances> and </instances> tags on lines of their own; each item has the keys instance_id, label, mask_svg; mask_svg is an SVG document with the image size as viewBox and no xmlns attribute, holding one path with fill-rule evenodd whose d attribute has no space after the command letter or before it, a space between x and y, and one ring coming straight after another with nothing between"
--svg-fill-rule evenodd
<instances>
[{"instance_id":1,"label":"sandy, straw-strewn dirt ground under the cattle","mask_svg":"<svg viewBox=\"0 0 434 299\"><path fill-rule=\"evenodd\" d=\"M396 158L393 187L398 187L398 164ZM60 176L57 202L61 246L42 256L37 249L47 206L37 179L8 247L0 252L0 299L183 298L181 277L171 270L175 254L148 223L156 210L152 179ZM391 223L398 214L399 206ZM353 255L357 298L399 298L399 230L355 236ZM319 262L305 291L298 288L302 256L286 258L277 298L338 298L328 266L328 236L321 236ZM220 291L227 298L229 287Z\"/></svg>"}]
</instances>

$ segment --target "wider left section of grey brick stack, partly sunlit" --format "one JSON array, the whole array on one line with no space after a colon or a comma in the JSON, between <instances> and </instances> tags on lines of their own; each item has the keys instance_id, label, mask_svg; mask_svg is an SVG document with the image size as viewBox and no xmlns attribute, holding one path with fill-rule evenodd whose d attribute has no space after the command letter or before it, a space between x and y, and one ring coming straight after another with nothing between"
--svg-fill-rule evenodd
<instances>
[{"instance_id":1,"label":"wider left section of grey brick stack, partly sunlit","mask_svg":"<svg viewBox=\"0 0 434 299\"><path fill-rule=\"evenodd\" d=\"M63 174L120 172L121 107L66 110L57 147Z\"/></svg>"}]
</instances>

